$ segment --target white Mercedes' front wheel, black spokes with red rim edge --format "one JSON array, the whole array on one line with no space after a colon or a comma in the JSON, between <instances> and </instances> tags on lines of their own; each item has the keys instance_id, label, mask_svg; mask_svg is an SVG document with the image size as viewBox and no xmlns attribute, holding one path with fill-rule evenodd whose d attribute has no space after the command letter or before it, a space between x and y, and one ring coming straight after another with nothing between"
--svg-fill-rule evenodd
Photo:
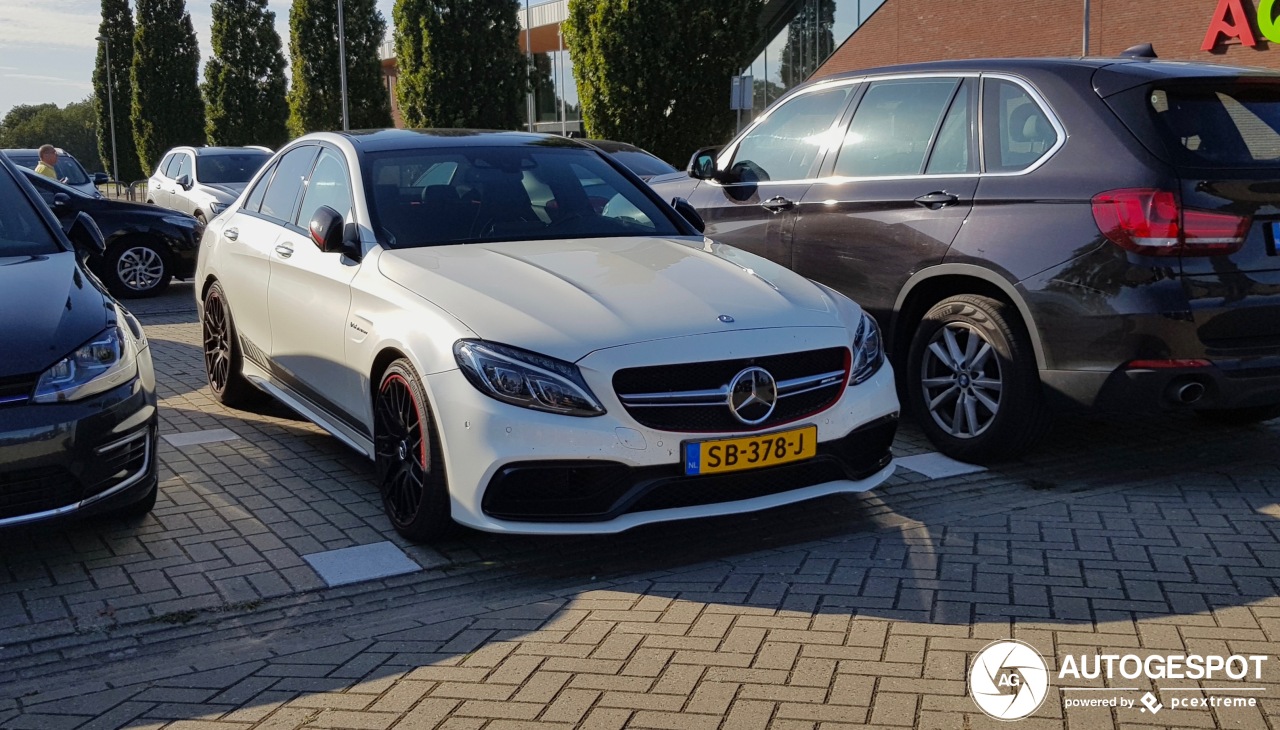
<instances>
[{"instance_id":1,"label":"white Mercedes' front wheel, black spokes with red rim edge","mask_svg":"<svg viewBox=\"0 0 1280 730\"><path fill-rule=\"evenodd\" d=\"M392 362L378 385L374 467L383 508L397 533L425 542L453 526L440 438L408 360Z\"/></svg>"}]
</instances>

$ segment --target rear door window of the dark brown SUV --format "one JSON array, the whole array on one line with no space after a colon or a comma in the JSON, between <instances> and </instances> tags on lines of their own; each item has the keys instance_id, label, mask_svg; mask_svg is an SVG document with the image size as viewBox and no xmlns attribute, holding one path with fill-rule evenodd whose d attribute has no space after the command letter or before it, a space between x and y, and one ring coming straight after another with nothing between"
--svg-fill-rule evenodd
<instances>
[{"instance_id":1,"label":"rear door window of the dark brown SUV","mask_svg":"<svg viewBox=\"0 0 1280 730\"><path fill-rule=\"evenodd\" d=\"M914 78L872 83L858 104L840 145L841 177L918 175L938 131L957 78Z\"/></svg>"}]
</instances>

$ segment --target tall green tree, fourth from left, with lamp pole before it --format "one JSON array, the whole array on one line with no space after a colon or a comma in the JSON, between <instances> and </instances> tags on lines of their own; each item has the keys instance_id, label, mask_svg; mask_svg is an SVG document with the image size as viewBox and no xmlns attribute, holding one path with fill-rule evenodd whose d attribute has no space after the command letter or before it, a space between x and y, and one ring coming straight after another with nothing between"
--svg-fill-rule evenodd
<instances>
[{"instance_id":1,"label":"tall green tree, fourth from left, with lamp pole before it","mask_svg":"<svg viewBox=\"0 0 1280 730\"><path fill-rule=\"evenodd\" d=\"M352 129L392 126L379 46L387 20L375 0L342 0L347 38L347 113ZM289 133L342 129L335 0L293 0L289 6Z\"/></svg>"}]
</instances>

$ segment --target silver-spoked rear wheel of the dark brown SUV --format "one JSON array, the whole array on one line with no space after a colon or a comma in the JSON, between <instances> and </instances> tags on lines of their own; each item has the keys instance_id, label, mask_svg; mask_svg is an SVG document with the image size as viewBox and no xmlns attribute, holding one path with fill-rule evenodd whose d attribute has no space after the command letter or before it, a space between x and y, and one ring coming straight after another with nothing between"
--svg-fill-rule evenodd
<instances>
[{"instance_id":1,"label":"silver-spoked rear wheel of the dark brown SUV","mask_svg":"<svg viewBox=\"0 0 1280 730\"><path fill-rule=\"evenodd\" d=\"M954 296L924 315L911 339L908 401L947 456L1018 456L1048 426L1030 339L1010 309L989 297Z\"/></svg>"}]
</instances>

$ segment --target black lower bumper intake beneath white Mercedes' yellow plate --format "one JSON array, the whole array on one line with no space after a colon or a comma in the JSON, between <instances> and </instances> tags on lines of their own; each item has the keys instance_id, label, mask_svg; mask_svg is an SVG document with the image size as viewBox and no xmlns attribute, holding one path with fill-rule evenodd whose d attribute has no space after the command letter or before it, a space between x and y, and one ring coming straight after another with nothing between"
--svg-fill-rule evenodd
<instances>
[{"instance_id":1,"label":"black lower bumper intake beneath white Mercedes' yellow plate","mask_svg":"<svg viewBox=\"0 0 1280 730\"><path fill-rule=\"evenodd\" d=\"M888 465L896 430L897 416L886 416L818 444L818 456L806 461L703 476L685 476L680 465L511 464L489 482L481 508L500 520L598 523L630 512L736 502L837 479L865 479Z\"/></svg>"}]
</instances>

